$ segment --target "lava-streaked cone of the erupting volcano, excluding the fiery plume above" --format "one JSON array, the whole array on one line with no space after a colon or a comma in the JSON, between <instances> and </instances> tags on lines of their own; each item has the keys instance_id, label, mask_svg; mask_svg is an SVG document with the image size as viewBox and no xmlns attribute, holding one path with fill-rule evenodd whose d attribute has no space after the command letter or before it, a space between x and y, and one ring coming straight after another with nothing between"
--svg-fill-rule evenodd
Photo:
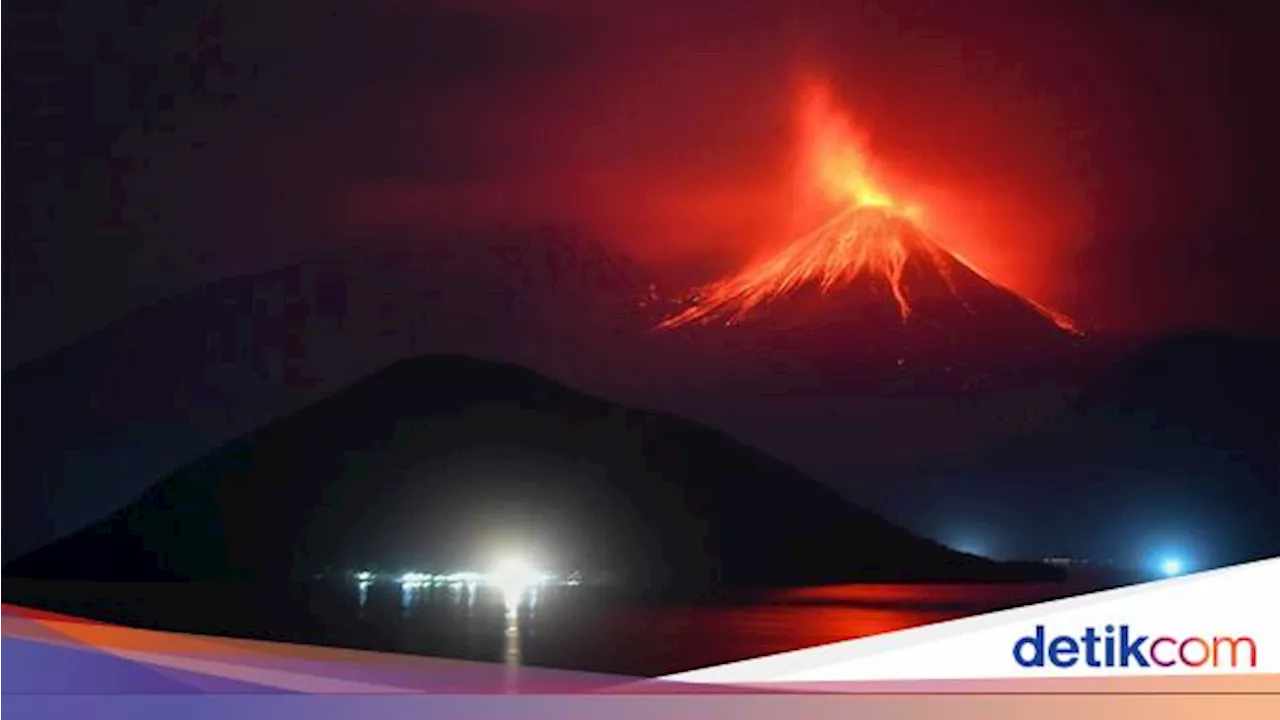
<instances>
[{"instance_id":1,"label":"lava-streaked cone of the erupting volcano, excluding the fiery plume above","mask_svg":"<svg viewBox=\"0 0 1280 720\"><path fill-rule=\"evenodd\" d=\"M879 208L838 219L846 227L695 292L660 325L672 357L788 395L982 391L1080 361L1069 319L986 278L910 219ZM728 379L733 369L742 375Z\"/></svg>"}]
</instances>

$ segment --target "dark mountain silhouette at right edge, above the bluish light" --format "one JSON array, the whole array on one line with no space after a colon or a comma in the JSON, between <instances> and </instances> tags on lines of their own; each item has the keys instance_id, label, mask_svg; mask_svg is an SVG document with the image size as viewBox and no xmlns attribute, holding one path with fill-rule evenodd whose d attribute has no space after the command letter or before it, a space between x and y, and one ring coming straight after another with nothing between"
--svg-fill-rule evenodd
<instances>
[{"instance_id":1,"label":"dark mountain silhouette at right edge, above the bluish light","mask_svg":"<svg viewBox=\"0 0 1280 720\"><path fill-rule=\"evenodd\" d=\"M1275 341L1193 333L1152 342L1060 413L977 456L916 471L914 482L933 498L924 505L952 498L936 515L984 516L1020 537L1093 525L1098 552L1140 555L1165 543L1215 562L1274 555L1276 368ZM1028 512L1046 502L1052 514Z\"/></svg>"}]
</instances>

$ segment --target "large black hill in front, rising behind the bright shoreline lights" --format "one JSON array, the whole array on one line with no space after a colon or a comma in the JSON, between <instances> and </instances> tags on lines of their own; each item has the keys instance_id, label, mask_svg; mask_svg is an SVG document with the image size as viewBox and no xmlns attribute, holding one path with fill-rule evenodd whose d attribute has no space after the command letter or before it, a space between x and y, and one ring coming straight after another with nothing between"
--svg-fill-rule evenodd
<instances>
[{"instance_id":1,"label":"large black hill in front, rising behind the bright shoreline lights","mask_svg":"<svg viewBox=\"0 0 1280 720\"><path fill-rule=\"evenodd\" d=\"M468 566L502 542L641 587L1005 573L709 428L453 356L276 420L4 571L271 583Z\"/></svg>"}]
</instances>

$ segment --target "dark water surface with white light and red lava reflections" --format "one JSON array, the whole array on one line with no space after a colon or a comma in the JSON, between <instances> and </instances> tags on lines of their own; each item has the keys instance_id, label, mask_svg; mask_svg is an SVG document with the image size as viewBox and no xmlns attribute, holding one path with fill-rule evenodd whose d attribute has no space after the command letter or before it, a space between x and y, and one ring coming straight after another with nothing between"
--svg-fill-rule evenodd
<instances>
[{"instance_id":1,"label":"dark water surface with white light and red lava reflections","mask_svg":"<svg viewBox=\"0 0 1280 720\"><path fill-rule=\"evenodd\" d=\"M864 584L705 603L543 588L512 609L497 591L394 583L261 588L4 580L17 605L138 628L657 676L1079 594L1096 583Z\"/></svg>"}]
</instances>

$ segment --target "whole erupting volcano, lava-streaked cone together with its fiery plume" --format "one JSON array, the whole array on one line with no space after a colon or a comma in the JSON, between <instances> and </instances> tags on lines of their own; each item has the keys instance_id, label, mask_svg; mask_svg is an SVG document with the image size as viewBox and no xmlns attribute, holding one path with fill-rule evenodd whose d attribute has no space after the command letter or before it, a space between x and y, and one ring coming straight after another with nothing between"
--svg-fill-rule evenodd
<instances>
[{"instance_id":1,"label":"whole erupting volcano, lava-streaked cone together with its fiery plume","mask_svg":"<svg viewBox=\"0 0 1280 720\"><path fill-rule=\"evenodd\" d=\"M937 395L1071 361L1074 322L940 242L947 228L883 182L828 82L809 78L796 110L792 223L812 229L659 325L682 360L744 368L726 379L771 395Z\"/></svg>"}]
</instances>

